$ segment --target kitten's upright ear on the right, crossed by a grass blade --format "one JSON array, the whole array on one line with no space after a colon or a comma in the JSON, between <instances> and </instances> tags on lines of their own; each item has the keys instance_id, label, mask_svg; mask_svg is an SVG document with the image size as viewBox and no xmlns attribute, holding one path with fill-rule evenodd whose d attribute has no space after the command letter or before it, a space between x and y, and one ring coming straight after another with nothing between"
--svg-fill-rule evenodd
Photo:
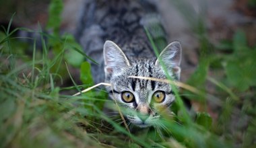
<instances>
[{"instance_id":1,"label":"kitten's upright ear on the right, crossed by a grass blade","mask_svg":"<svg viewBox=\"0 0 256 148\"><path fill-rule=\"evenodd\" d=\"M156 60L156 65L160 65L160 61L162 61L166 68L170 70L177 79L180 78L181 74L181 50L180 42L171 42L162 50Z\"/></svg>"}]
</instances>

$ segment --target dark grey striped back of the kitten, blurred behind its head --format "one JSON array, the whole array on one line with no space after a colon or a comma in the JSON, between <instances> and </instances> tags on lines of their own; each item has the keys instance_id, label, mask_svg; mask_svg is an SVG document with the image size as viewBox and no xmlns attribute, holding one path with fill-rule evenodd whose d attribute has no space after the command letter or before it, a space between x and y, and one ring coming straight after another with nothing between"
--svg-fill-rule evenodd
<instances>
[{"instance_id":1,"label":"dark grey striped back of the kitten, blurred behind its head","mask_svg":"<svg viewBox=\"0 0 256 148\"><path fill-rule=\"evenodd\" d=\"M155 57L143 28L146 17L156 13L148 0L88 0L84 4L76 37L86 54L100 65L92 65L92 73L104 73L102 48L106 40L120 46L128 59ZM103 81L101 75L94 78Z\"/></svg>"}]
</instances>

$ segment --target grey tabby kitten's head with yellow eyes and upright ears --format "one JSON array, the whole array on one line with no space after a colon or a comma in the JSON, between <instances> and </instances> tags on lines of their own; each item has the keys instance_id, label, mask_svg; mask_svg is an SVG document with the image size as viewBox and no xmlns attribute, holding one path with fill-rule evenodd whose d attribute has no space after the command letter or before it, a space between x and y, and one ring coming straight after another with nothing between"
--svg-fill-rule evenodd
<instances>
[{"instance_id":1,"label":"grey tabby kitten's head with yellow eyes and upright ears","mask_svg":"<svg viewBox=\"0 0 256 148\"><path fill-rule=\"evenodd\" d=\"M110 98L116 100L119 106L126 110L125 117L133 124L146 127L154 125L160 118L160 113L174 101L174 93L168 83L135 79L129 76L154 77L166 79L166 73L161 62L166 65L168 74L179 80L181 69L181 44L172 42L162 52L158 59L129 60L124 52L112 41L104 44L104 71Z\"/></svg>"}]
</instances>

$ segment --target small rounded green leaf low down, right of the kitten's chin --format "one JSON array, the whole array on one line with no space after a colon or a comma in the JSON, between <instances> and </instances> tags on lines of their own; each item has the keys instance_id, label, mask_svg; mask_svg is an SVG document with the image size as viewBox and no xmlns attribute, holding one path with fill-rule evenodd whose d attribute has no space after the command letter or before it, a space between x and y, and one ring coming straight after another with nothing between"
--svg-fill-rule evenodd
<instances>
[{"instance_id":1,"label":"small rounded green leaf low down, right of the kitten's chin","mask_svg":"<svg viewBox=\"0 0 256 148\"><path fill-rule=\"evenodd\" d=\"M212 117L207 112L198 112L195 122L206 129L210 129L212 126Z\"/></svg>"}]
</instances>

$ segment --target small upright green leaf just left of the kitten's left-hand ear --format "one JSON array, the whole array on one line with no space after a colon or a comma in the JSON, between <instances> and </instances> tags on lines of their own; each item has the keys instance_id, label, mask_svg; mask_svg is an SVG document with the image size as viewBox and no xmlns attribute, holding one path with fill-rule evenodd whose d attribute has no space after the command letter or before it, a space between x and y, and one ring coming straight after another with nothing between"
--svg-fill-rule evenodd
<instances>
[{"instance_id":1,"label":"small upright green leaf just left of the kitten's left-hand ear","mask_svg":"<svg viewBox=\"0 0 256 148\"><path fill-rule=\"evenodd\" d=\"M81 65L80 79L84 84L92 85L94 83L91 74L91 65L88 62L84 62Z\"/></svg>"}]
</instances>

